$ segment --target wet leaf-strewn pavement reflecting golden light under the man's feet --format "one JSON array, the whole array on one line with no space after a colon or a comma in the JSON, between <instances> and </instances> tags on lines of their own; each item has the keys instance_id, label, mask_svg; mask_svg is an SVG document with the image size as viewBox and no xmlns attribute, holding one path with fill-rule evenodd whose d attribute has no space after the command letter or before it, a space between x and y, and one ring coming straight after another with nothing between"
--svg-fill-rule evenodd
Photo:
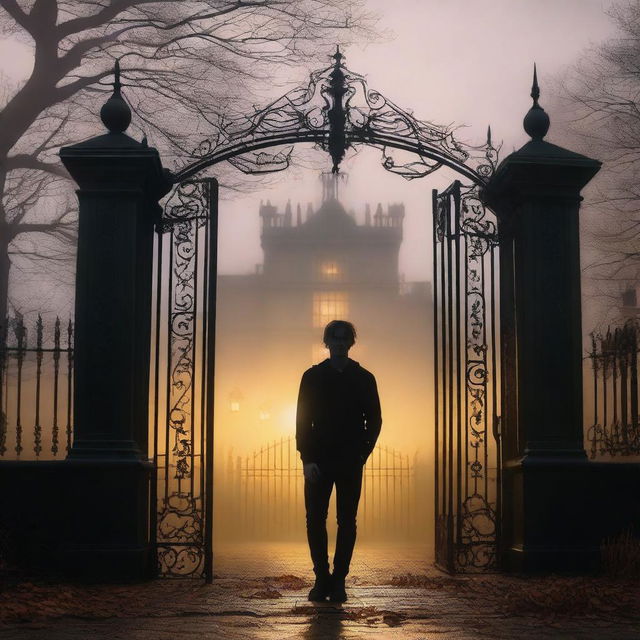
<instances>
[{"instance_id":1,"label":"wet leaf-strewn pavement reflecting golden light under the man's feet","mask_svg":"<svg viewBox=\"0 0 640 640\"><path fill-rule=\"evenodd\" d=\"M419 545L359 545L344 605L314 605L303 544L216 548L211 585L46 584L0 591L0 638L46 640L640 639L638 581L447 576Z\"/></svg>"}]
</instances>

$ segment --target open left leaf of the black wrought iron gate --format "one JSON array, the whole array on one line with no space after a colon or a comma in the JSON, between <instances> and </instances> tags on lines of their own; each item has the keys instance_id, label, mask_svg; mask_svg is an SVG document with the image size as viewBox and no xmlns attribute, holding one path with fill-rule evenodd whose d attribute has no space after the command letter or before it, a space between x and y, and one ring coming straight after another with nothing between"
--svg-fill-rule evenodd
<instances>
[{"instance_id":1,"label":"open left leaf of the black wrought iron gate","mask_svg":"<svg viewBox=\"0 0 640 640\"><path fill-rule=\"evenodd\" d=\"M212 578L218 185L177 185L156 234L151 536L163 576Z\"/></svg>"}]
</instances>

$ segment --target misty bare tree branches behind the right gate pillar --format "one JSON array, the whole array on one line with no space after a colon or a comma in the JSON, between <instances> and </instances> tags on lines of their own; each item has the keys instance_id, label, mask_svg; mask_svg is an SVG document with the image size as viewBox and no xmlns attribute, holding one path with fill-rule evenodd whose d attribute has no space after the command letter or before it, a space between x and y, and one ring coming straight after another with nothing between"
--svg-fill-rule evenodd
<instances>
[{"instance_id":1,"label":"misty bare tree branches behind the right gate pillar","mask_svg":"<svg viewBox=\"0 0 640 640\"><path fill-rule=\"evenodd\" d=\"M562 79L567 144L603 161L587 191L586 273L599 296L640 282L640 0L609 12L618 35Z\"/></svg>"}]
</instances>

